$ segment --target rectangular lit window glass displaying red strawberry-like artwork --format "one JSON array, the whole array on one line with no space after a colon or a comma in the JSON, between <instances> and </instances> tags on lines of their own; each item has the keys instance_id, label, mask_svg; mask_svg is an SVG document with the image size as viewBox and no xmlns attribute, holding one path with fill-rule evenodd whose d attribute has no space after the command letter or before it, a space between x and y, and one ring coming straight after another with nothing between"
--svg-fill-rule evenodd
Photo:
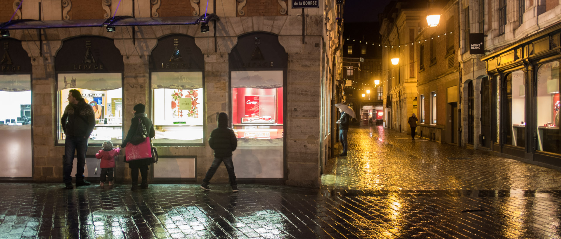
<instances>
[{"instance_id":1,"label":"rectangular lit window glass displaying red strawberry-like artwork","mask_svg":"<svg viewBox=\"0 0 561 239\"><path fill-rule=\"evenodd\" d=\"M203 72L152 72L154 144L203 141Z\"/></svg>"}]
</instances>

